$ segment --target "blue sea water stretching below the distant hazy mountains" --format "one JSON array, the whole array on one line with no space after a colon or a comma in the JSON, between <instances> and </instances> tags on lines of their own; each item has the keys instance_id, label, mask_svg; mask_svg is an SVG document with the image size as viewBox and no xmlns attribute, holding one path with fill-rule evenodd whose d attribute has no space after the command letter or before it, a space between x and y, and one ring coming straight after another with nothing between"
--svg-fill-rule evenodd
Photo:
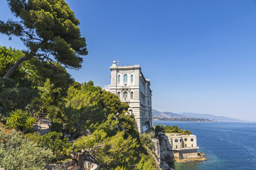
<instances>
[{"instance_id":1,"label":"blue sea water stretching below the distant hazy mountains","mask_svg":"<svg viewBox=\"0 0 256 170\"><path fill-rule=\"evenodd\" d=\"M256 170L256 123L173 121L153 121L153 123L177 125L197 136L198 151L205 154L207 161L175 163L173 168L176 170Z\"/></svg>"}]
</instances>

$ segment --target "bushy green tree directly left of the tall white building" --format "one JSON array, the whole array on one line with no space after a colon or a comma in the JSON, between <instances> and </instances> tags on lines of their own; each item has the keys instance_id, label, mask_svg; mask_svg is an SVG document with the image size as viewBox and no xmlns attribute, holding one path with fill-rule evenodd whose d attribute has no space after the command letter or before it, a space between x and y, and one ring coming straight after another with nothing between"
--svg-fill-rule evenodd
<instances>
[{"instance_id":1,"label":"bushy green tree directly left of the tall white building","mask_svg":"<svg viewBox=\"0 0 256 170\"><path fill-rule=\"evenodd\" d=\"M73 134L72 137L86 135L87 129L92 131L96 129L92 125L100 124L103 120L107 120L108 115L122 113L129 107L127 104L122 105L116 95L94 86L92 81L80 87L78 84L75 86L70 86L68 89L64 117L59 117L63 120L63 125L65 124L65 132Z\"/></svg>"}]
</instances>

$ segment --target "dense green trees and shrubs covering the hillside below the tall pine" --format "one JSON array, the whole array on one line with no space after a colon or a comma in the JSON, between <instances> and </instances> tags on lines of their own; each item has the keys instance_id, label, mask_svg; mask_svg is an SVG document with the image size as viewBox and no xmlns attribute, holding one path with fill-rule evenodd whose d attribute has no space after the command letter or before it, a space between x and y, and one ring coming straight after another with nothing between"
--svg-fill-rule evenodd
<instances>
[{"instance_id":1,"label":"dense green trees and shrubs covering the hillside below the tall pine","mask_svg":"<svg viewBox=\"0 0 256 170\"><path fill-rule=\"evenodd\" d=\"M22 54L6 47L1 50ZM88 149L95 163L106 169L155 169L150 137L139 135L134 118L126 112L129 106L117 96L92 81L75 82L60 64L23 62L14 75L19 74L23 77L0 78L1 167L43 169L47 162L60 162ZM51 132L46 135L33 132L41 113L50 118ZM71 135L72 143L65 134ZM18 147L9 147L17 142ZM24 159L16 159L23 154L43 162L24 164Z\"/></svg>"}]
</instances>

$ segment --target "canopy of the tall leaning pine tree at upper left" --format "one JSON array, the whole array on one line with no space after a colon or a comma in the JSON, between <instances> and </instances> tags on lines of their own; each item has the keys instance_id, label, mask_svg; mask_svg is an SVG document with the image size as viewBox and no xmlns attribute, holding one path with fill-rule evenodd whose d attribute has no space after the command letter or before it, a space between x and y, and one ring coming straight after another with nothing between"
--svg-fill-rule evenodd
<instances>
[{"instance_id":1,"label":"canopy of the tall leaning pine tree at upper left","mask_svg":"<svg viewBox=\"0 0 256 170\"><path fill-rule=\"evenodd\" d=\"M66 67L80 68L87 55L85 38L81 38L79 21L64 0L7 0L18 21L0 21L0 32L17 36L28 47L23 60L37 57Z\"/></svg>"}]
</instances>

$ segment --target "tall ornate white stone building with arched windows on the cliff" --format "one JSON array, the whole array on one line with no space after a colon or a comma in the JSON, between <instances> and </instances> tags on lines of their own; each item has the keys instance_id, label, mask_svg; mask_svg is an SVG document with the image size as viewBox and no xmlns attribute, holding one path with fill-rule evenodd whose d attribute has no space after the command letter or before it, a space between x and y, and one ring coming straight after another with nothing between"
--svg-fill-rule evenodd
<instances>
[{"instance_id":1,"label":"tall ornate white stone building with arched windows on the cliff","mask_svg":"<svg viewBox=\"0 0 256 170\"><path fill-rule=\"evenodd\" d=\"M134 115L139 132L144 132L152 126L152 91L149 79L145 79L139 64L117 66L114 61L110 70L110 92L129 104L128 111Z\"/></svg>"}]
</instances>

